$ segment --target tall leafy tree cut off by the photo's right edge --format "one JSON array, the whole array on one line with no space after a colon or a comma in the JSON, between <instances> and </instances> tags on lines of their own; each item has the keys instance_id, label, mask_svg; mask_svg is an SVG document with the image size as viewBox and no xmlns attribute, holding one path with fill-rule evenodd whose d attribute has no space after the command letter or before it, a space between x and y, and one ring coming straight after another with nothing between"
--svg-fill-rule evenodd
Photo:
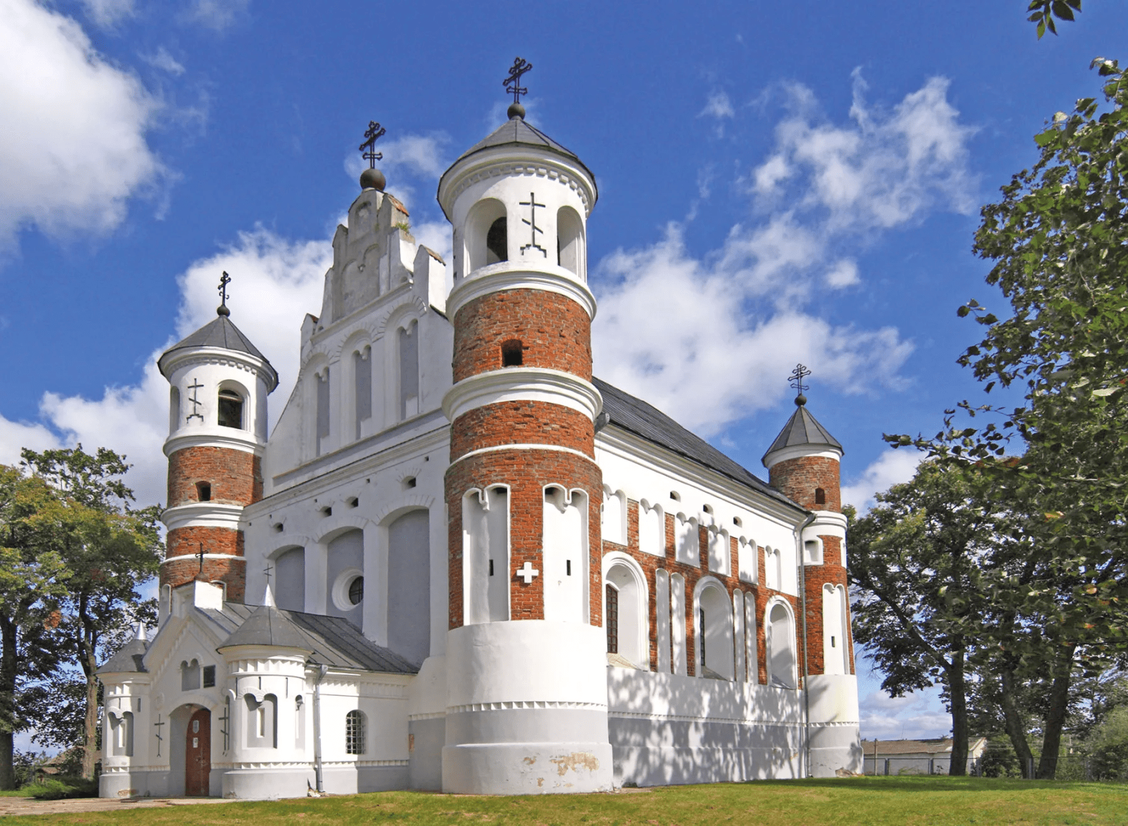
<instances>
[{"instance_id":1,"label":"tall leafy tree cut off by the photo's right edge","mask_svg":"<svg viewBox=\"0 0 1128 826\"><path fill-rule=\"evenodd\" d=\"M992 667L1023 766L1032 756L1015 702L1023 679L1046 682L1038 775L1052 777L1078 674L1128 644L1128 79L1093 65L1104 100L1082 98L1036 137L1038 162L982 209L975 251L1011 305L999 319L978 301L959 309L987 327L960 362L986 383L1023 390L1014 408L959 408L986 424L945 428L915 443L949 464L978 463L1017 492L1031 554L995 595ZM1008 452L1017 446L1019 455ZM999 460L1011 456L1010 460ZM985 640L986 642L986 640Z\"/></svg>"}]
</instances>

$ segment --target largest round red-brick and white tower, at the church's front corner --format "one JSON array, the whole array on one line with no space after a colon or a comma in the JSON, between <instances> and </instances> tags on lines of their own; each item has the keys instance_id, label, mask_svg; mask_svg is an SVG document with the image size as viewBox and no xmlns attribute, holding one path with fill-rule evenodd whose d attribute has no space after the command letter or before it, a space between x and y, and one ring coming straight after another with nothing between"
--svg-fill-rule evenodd
<instances>
[{"instance_id":1,"label":"largest round red-brick and white tower, at the church's front corner","mask_svg":"<svg viewBox=\"0 0 1128 826\"><path fill-rule=\"evenodd\" d=\"M597 191L523 109L443 174L453 225L443 790L611 787L585 226Z\"/></svg>"}]
</instances>

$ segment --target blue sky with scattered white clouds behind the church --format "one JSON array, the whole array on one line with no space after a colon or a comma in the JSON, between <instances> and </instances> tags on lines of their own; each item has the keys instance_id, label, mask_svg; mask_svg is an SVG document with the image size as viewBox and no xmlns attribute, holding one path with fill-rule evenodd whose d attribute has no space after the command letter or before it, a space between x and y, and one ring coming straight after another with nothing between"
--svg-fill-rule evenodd
<instances>
[{"instance_id":1,"label":"blue sky with scattered white clouds behind the church","mask_svg":"<svg viewBox=\"0 0 1128 826\"><path fill-rule=\"evenodd\" d=\"M442 169L496 126L520 54L528 120L594 172L597 372L749 468L812 370L847 501L911 475L882 432L976 397L954 360L997 307L978 209L1032 135L1128 58L1128 5L1036 39L1025 0L299 3L0 0L0 462L106 445L162 499L155 353L232 319L292 384L369 120L388 191L444 253ZM935 736L931 695L863 676L863 733Z\"/></svg>"}]
</instances>

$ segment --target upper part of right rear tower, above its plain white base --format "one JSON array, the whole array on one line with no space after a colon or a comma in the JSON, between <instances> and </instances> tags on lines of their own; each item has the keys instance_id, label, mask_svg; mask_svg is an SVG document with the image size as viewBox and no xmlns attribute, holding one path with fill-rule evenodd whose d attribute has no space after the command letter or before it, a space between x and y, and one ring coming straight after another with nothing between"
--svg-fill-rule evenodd
<instances>
[{"instance_id":1,"label":"upper part of right rear tower, above its plain white base","mask_svg":"<svg viewBox=\"0 0 1128 826\"><path fill-rule=\"evenodd\" d=\"M812 511L803 529L807 671L853 674L846 595L846 518L841 515L843 446L816 421L800 393L796 410L764 455L772 486Z\"/></svg>"}]
</instances>

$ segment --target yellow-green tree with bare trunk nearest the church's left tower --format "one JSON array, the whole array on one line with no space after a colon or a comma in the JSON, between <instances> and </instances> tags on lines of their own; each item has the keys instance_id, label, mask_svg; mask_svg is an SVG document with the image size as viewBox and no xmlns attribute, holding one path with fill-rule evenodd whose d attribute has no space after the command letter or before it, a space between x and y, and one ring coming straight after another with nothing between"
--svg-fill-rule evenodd
<instances>
[{"instance_id":1,"label":"yellow-green tree with bare trunk nearest the church's left tower","mask_svg":"<svg viewBox=\"0 0 1128 826\"><path fill-rule=\"evenodd\" d=\"M58 492L64 507L52 511L50 529L67 569L59 600L56 639L85 682L82 776L94 777L98 741L98 669L107 638L135 622L144 609L139 586L157 573L161 542L159 508L134 509L122 476L123 456L99 448L23 451L24 464ZM151 607L150 607L151 609Z\"/></svg>"}]
</instances>

